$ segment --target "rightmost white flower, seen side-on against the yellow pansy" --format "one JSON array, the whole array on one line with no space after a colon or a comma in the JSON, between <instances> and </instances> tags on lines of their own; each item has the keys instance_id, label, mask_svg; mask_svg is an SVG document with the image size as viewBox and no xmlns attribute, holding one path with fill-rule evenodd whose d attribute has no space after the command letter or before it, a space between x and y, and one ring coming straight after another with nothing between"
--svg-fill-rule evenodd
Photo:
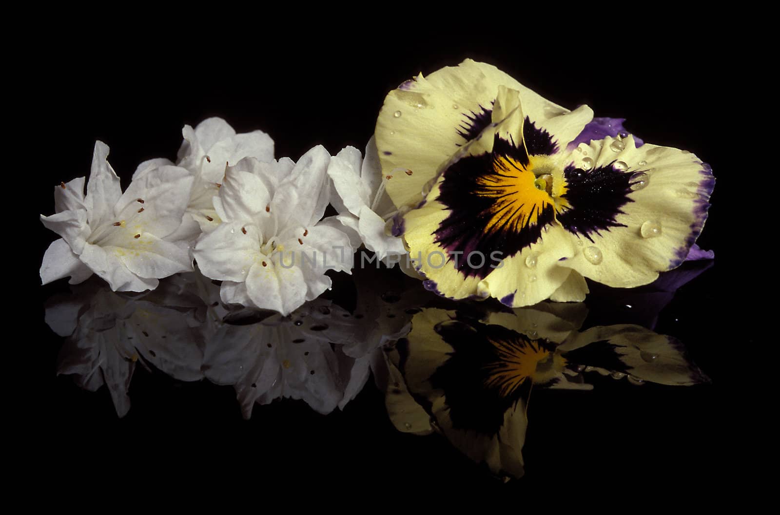
<instances>
[{"instance_id":1,"label":"rightmost white flower, seen side-on against the yellow pansy","mask_svg":"<svg viewBox=\"0 0 780 515\"><path fill-rule=\"evenodd\" d=\"M400 170L399 173L406 171ZM338 192L338 196L334 195L331 199L339 212L336 218L355 231L360 241L374 251L378 259L406 254L401 238L385 231L385 226L392 224L390 220L398 211L390 197L385 195L385 181L388 179L382 177L374 138L366 146L365 159L353 146L347 146L332 157L328 176ZM353 238L354 243L356 238Z\"/></svg>"}]
</instances>

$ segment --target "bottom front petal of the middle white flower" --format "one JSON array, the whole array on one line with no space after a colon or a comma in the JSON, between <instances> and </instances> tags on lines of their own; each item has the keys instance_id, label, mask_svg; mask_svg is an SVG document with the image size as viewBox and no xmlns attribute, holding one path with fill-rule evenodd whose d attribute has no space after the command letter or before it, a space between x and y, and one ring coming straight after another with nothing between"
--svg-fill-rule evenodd
<instances>
[{"instance_id":1,"label":"bottom front petal of the middle white flower","mask_svg":"<svg viewBox=\"0 0 780 515\"><path fill-rule=\"evenodd\" d=\"M283 264L277 256L265 261L266 266L263 263L252 266L246 276L246 292L258 308L289 315L306 301L307 285L300 268L294 265L285 268L291 263L289 256L287 259L279 256Z\"/></svg>"}]
</instances>

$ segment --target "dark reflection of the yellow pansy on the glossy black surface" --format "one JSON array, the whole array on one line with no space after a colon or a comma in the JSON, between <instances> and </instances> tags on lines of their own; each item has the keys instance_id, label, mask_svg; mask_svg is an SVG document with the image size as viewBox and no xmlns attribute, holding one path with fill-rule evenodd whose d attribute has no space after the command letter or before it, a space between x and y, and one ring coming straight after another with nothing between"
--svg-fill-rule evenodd
<instances>
[{"instance_id":1,"label":"dark reflection of the yellow pansy on the glossy black surface","mask_svg":"<svg viewBox=\"0 0 780 515\"><path fill-rule=\"evenodd\" d=\"M707 380L671 337L633 325L580 332L583 308L424 309L388 353L396 383L388 384L387 407L395 427L434 429L494 474L519 477L532 388L590 390L582 373L590 371L632 383Z\"/></svg>"}]
</instances>

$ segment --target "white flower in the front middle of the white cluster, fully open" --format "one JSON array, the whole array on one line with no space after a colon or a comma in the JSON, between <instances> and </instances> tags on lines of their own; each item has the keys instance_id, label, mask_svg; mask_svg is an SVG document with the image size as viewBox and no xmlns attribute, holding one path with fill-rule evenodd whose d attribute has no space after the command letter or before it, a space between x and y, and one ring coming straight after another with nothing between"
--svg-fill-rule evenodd
<instances>
[{"instance_id":1,"label":"white flower in the front middle of the white cluster, fully open","mask_svg":"<svg viewBox=\"0 0 780 515\"><path fill-rule=\"evenodd\" d=\"M248 157L225 169L214 198L222 224L193 250L200 271L223 281L222 301L286 315L331 286L326 270L351 270L341 224L320 220L330 199L330 159L315 146L297 164Z\"/></svg>"}]
</instances>

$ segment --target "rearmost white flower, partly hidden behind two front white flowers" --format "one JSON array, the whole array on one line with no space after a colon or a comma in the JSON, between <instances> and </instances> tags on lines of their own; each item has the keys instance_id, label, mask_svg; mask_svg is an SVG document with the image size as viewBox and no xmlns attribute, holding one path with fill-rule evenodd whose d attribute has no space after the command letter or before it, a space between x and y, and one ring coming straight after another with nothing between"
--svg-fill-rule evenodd
<instances>
[{"instance_id":1,"label":"rearmost white flower, partly hidden behind two front white flowers","mask_svg":"<svg viewBox=\"0 0 780 515\"><path fill-rule=\"evenodd\" d=\"M274 159L274 141L262 131L236 134L222 118L207 118L195 129L184 125L184 141L176 164L192 174L194 182L182 225L176 239L193 240L201 232L213 231L221 220L214 210L212 198L219 191L219 182L225 175L225 165L235 165L244 157L261 161ZM167 159L153 159L141 163L133 180L147 175L161 165L173 164Z\"/></svg>"}]
</instances>

